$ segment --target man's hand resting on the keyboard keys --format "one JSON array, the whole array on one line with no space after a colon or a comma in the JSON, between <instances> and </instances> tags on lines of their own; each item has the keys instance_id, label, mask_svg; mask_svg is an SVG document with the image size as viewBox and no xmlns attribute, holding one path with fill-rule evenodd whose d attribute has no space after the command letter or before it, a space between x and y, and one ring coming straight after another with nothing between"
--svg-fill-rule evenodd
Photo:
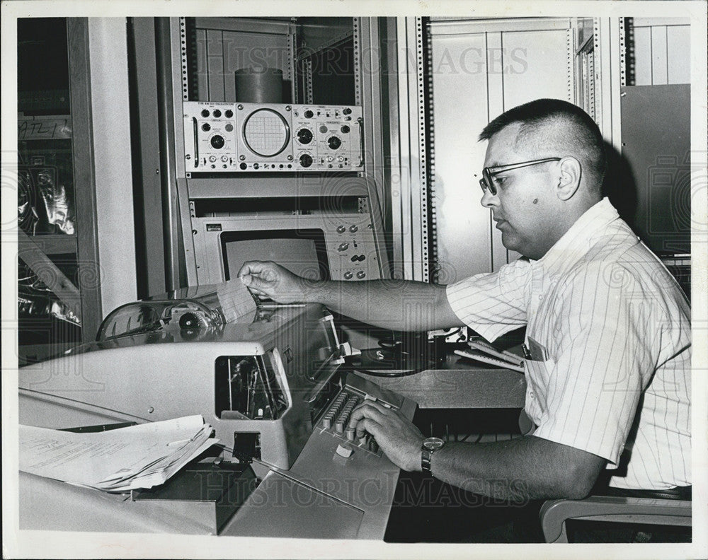
<instances>
[{"instance_id":1,"label":"man's hand resting on the keyboard keys","mask_svg":"<svg viewBox=\"0 0 708 560\"><path fill-rule=\"evenodd\" d=\"M353 410L349 427L356 428L357 438L370 433L396 467L421 470L421 445L425 438L398 410L367 400Z\"/></svg>"}]
</instances>

